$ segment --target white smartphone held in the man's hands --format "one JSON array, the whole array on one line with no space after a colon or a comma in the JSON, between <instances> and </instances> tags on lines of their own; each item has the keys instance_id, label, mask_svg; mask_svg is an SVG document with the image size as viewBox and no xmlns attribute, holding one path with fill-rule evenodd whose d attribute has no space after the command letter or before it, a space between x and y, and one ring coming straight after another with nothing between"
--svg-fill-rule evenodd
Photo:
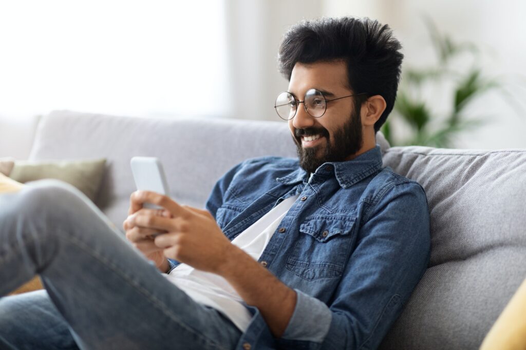
<instances>
[{"instance_id":1,"label":"white smartphone held in the man's hands","mask_svg":"<svg viewBox=\"0 0 526 350\"><path fill-rule=\"evenodd\" d=\"M133 157L130 161L131 172L137 190L152 191L170 195L163 164L156 157ZM162 209L158 205L145 203L144 208Z\"/></svg>"}]
</instances>

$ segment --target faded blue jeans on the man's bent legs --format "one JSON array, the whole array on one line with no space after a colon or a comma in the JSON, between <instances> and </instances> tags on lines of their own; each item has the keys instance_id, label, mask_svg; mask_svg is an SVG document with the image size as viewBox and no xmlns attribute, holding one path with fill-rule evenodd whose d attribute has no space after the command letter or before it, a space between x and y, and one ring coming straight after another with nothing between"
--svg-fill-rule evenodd
<instances>
[{"instance_id":1,"label":"faded blue jeans on the man's bent legs","mask_svg":"<svg viewBox=\"0 0 526 350\"><path fill-rule=\"evenodd\" d=\"M37 181L0 194L2 349L232 349L241 332L196 303L82 193Z\"/></svg>"}]
</instances>

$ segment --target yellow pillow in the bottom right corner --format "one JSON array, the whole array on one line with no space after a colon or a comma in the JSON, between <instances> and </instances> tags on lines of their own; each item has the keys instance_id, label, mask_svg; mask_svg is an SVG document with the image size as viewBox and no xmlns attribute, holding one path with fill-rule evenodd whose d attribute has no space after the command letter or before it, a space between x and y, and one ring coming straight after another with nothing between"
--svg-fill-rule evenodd
<instances>
[{"instance_id":1,"label":"yellow pillow in the bottom right corner","mask_svg":"<svg viewBox=\"0 0 526 350\"><path fill-rule=\"evenodd\" d=\"M526 280L484 338L480 350L526 349Z\"/></svg>"}]
</instances>

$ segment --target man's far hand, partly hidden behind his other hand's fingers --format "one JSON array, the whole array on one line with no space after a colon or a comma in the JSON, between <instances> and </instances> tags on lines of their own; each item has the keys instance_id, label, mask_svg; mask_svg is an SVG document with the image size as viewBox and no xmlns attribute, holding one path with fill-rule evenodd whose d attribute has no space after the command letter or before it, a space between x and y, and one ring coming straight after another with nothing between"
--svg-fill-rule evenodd
<instances>
[{"instance_id":1,"label":"man's far hand, partly hidden behind his other hand's fingers","mask_svg":"<svg viewBox=\"0 0 526 350\"><path fill-rule=\"evenodd\" d=\"M167 210L142 208L142 205L134 202L133 196L131 196L130 207L128 209L128 218L130 215L135 213L140 213L141 215L146 216L155 215L168 218L171 217L170 212ZM155 245L153 236L154 234L164 233L166 231L130 225L127 219L123 222L123 228L126 231L126 239L130 241L135 246L135 248L141 251L141 253L143 253L148 260L153 261L157 268L161 270L161 272L166 272L168 270L168 261L163 254L163 249Z\"/></svg>"}]
</instances>

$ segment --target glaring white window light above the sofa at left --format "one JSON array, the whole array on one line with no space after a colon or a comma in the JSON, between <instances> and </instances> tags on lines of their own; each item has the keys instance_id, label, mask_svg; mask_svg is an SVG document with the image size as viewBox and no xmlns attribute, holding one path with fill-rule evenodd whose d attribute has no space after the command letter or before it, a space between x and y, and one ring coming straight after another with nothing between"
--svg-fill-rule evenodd
<instances>
[{"instance_id":1,"label":"glaring white window light above the sofa at left","mask_svg":"<svg viewBox=\"0 0 526 350\"><path fill-rule=\"evenodd\" d=\"M0 115L228 114L224 2L0 2Z\"/></svg>"}]
</instances>

